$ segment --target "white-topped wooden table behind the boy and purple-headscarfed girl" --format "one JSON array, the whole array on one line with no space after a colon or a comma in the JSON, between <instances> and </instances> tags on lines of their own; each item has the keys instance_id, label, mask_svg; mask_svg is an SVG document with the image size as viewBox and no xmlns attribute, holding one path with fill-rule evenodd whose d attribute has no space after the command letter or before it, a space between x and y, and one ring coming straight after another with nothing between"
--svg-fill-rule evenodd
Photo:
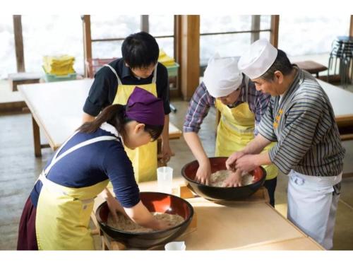
<instances>
[{"instance_id":1,"label":"white-topped wooden table behind the boy and purple-headscarfed girl","mask_svg":"<svg viewBox=\"0 0 353 265\"><path fill-rule=\"evenodd\" d=\"M42 155L41 148L59 148L82 122L83 105L93 79L38 83L18 86L32 113L35 156ZM40 143L40 129L49 141ZM179 139L181 131L169 123L169 139Z\"/></svg>"}]
</instances>

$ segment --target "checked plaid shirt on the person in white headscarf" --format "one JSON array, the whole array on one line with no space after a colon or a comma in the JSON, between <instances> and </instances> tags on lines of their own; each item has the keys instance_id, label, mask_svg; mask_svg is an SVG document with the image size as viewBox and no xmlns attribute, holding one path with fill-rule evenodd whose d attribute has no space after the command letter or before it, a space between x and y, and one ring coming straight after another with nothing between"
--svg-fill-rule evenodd
<instances>
[{"instance_id":1,"label":"checked plaid shirt on the person in white headscarf","mask_svg":"<svg viewBox=\"0 0 353 265\"><path fill-rule=\"evenodd\" d=\"M243 75L243 82L241 84L241 92L239 98L232 105L228 107L237 107L239 104L246 102L246 86L245 78ZM255 128L261 121L261 117L265 114L266 107L270 102L270 95L261 93L256 90L255 84L249 80L248 83L248 104L251 112L255 114ZM203 119L207 116L211 106L215 106L215 98L208 93L205 83L201 84L196 88L193 98L189 103L189 108L184 119L184 132L198 132L200 130ZM254 134L258 134L255 129Z\"/></svg>"}]
</instances>

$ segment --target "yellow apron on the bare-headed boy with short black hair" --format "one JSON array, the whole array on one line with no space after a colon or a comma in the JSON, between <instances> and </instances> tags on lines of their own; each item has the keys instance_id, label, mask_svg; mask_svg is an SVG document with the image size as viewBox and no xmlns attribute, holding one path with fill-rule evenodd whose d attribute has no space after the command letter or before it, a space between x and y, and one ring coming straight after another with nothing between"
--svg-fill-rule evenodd
<instances>
[{"instance_id":1,"label":"yellow apron on the bare-headed boy with short black hair","mask_svg":"<svg viewBox=\"0 0 353 265\"><path fill-rule=\"evenodd\" d=\"M115 69L109 66L109 64L105 66L113 71L118 80L118 88L113 104L126 105L128 97L136 86L147 90L157 97L157 66L155 67L152 83L146 85L123 85ZM157 141L140 146L135 150L131 150L125 146L125 151L133 164L136 182L147 182L157 179Z\"/></svg>"}]
</instances>

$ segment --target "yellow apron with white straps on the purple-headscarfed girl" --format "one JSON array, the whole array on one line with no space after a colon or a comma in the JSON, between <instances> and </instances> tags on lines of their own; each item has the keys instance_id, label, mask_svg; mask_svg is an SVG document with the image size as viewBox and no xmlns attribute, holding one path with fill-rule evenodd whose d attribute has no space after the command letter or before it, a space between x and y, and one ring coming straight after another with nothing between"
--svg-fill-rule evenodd
<instances>
[{"instance_id":1,"label":"yellow apron with white straps on the purple-headscarfed girl","mask_svg":"<svg viewBox=\"0 0 353 265\"><path fill-rule=\"evenodd\" d=\"M40 174L43 186L35 219L38 249L95 249L89 228L90 213L95 196L107 187L108 180L90 187L69 188L50 181L46 176L52 166L68 153L97 141L109 140L117 139L114 136L100 136L73 146L58 156L64 143L54 155L52 163Z\"/></svg>"}]
</instances>

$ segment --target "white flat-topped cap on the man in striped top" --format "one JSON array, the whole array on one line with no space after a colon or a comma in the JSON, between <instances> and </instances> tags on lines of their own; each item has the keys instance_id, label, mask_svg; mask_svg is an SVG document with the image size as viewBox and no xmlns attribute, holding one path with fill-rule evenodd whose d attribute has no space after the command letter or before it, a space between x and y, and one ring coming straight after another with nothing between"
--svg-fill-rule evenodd
<instances>
[{"instance_id":1,"label":"white flat-topped cap on the man in striped top","mask_svg":"<svg viewBox=\"0 0 353 265\"><path fill-rule=\"evenodd\" d=\"M239 59L239 70L251 79L262 76L277 57L277 49L268 40L256 40Z\"/></svg>"}]
</instances>

